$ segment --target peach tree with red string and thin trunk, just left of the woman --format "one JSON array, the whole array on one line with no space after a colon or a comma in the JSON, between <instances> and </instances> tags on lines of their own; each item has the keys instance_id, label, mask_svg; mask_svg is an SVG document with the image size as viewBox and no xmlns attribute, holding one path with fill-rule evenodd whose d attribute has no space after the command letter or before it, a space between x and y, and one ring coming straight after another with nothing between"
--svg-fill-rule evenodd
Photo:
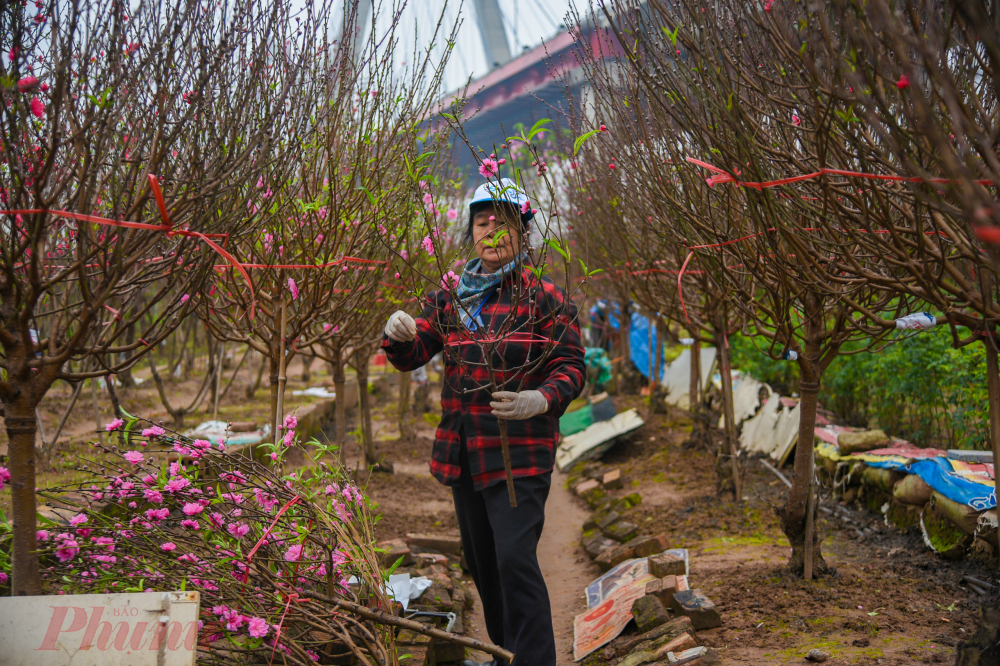
<instances>
[{"instance_id":1,"label":"peach tree with red string and thin trunk, just left of the woman","mask_svg":"<svg viewBox=\"0 0 1000 666\"><path fill-rule=\"evenodd\" d=\"M380 302L386 247L399 245L387 237L388 227L412 195L400 184L398 165L417 158L419 122L436 99L447 62L447 53L435 59L428 51L402 75L397 71L403 6L380 4L388 27L365 32L356 4L347 5L341 32L362 36L314 52L319 103L309 138L294 168L264 174L244 204L262 229L234 252L254 286L227 269L219 290L200 300L199 316L214 336L248 344L267 358L275 441L291 359L308 350L339 367L346 346L362 351L360 338L348 334L362 336L366 349L377 337L364 337L370 331L360 324ZM453 41L454 34L448 37ZM260 317L250 316L255 306ZM336 354L324 352L331 346ZM367 369L367 357L364 363ZM342 372L334 374L342 380Z\"/></svg>"}]
</instances>

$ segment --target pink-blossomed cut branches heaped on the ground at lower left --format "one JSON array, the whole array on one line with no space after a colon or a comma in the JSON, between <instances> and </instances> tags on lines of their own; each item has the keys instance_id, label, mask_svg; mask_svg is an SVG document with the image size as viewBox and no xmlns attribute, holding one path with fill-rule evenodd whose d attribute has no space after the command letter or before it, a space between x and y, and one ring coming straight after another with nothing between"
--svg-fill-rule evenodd
<instances>
[{"instance_id":1,"label":"pink-blossomed cut branches heaped on the ground at lower left","mask_svg":"<svg viewBox=\"0 0 1000 666\"><path fill-rule=\"evenodd\" d=\"M294 415L288 415L281 425L286 435L292 433L293 437L297 426ZM161 434L162 429L153 426L142 436ZM123 437L126 441L138 439L139 432L123 433ZM111 463L109 471L101 473L102 485L88 482L81 488L94 501L114 498L125 515L103 513L95 505L69 517L68 525L39 530L39 549L53 565L43 572L47 584L70 593L104 593L137 586L152 592L176 589L183 577L188 589L199 590L205 600L205 626L218 625L214 630L218 633L210 636L214 639L227 634L265 639L276 634L278 627L269 624L269 618L278 622L280 600L287 593L268 590L263 587L265 581L255 577L255 567L248 566L247 557L252 548L269 549L266 554L258 553L258 558L278 563L274 574L281 581L279 590L288 589L286 585L302 590L319 585L317 581L322 581L320 589L326 590L328 577L347 589L347 555L332 548L332 543L328 550L314 550L312 543L317 537L328 537L312 525L312 514L296 514L294 506L284 506L282 515L277 515L288 491L295 492L293 484L319 483L321 477L305 482L296 475L271 477L273 481L265 475L261 479L233 469L232 459L217 453L206 440L176 436L170 442L175 453L214 457L217 476L203 477L203 467L186 467L182 460L161 468L154 457L147 458L139 451L118 452L117 464ZM0 482L9 479L5 474L0 468ZM341 521L355 519L365 506L364 495L351 483L328 481L318 486L327 498L322 510ZM302 531L307 520L312 532L308 540ZM241 592L234 593L234 586L240 586ZM283 649L280 644L276 647Z\"/></svg>"}]
</instances>

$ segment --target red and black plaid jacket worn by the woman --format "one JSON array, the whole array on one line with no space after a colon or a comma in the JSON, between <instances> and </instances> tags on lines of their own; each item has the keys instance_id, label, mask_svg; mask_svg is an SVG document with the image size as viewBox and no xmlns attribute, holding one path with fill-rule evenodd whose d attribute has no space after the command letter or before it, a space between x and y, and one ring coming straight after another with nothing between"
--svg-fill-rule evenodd
<instances>
[{"instance_id":1,"label":"red and black plaid jacket worn by the woman","mask_svg":"<svg viewBox=\"0 0 1000 666\"><path fill-rule=\"evenodd\" d=\"M497 383L501 390L537 390L549 401L544 414L522 421L507 422L510 462L513 474L533 476L552 469L559 417L569 403L580 395L587 375L580 344L580 327L576 306L565 292L548 278L537 279L524 270L520 287L514 276L501 282L497 291L486 301L481 316L482 331L497 330L499 322L514 317L516 331L498 348L503 357L494 363ZM512 289L524 289L528 294L512 305ZM417 337L410 342L394 342L383 336L382 347L392 365L401 371L415 370L444 349L445 379L441 391L441 424L434 439L431 473L446 486L458 484L461 476L459 452L464 431L469 454L469 468L477 490L504 481L503 449L500 428L493 416L488 388L474 387L489 383L489 374L482 364L483 352L459 321L456 308L447 291L437 291L427 299L423 313L416 318ZM482 333L480 337L487 335ZM545 342L551 340L552 342ZM465 343L463 344L463 341ZM514 374L501 373L504 368L518 368L539 359L546 346L552 350L538 367ZM455 362L457 353L463 366Z\"/></svg>"}]
</instances>

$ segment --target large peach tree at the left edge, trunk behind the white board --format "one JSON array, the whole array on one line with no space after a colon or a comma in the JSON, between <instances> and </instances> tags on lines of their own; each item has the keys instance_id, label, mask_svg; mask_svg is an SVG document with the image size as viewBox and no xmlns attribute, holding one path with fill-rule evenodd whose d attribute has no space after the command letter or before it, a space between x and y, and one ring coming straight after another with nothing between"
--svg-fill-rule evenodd
<instances>
[{"instance_id":1,"label":"large peach tree at the left edge, trunk behind the white board","mask_svg":"<svg viewBox=\"0 0 1000 666\"><path fill-rule=\"evenodd\" d=\"M252 230L241 199L296 149L296 99L310 85L296 52L312 48L302 35L318 22L252 1L2 12L0 398L21 595L39 591L36 406L57 379L135 364L191 311L224 246Z\"/></svg>"}]
</instances>

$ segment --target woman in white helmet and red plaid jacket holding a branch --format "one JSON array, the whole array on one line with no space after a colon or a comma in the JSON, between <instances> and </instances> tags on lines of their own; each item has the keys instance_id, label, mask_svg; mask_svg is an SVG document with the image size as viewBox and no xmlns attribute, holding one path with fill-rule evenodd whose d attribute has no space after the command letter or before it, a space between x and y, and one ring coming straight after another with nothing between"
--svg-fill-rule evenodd
<instances>
[{"instance_id":1,"label":"woman in white helmet and red plaid jacket holding a branch","mask_svg":"<svg viewBox=\"0 0 1000 666\"><path fill-rule=\"evenodd\" d=\"M468 229L478 259L466 265L456 289L432 294L416 319L394 313L382 346L404 372L445 350L431 473L452 488L490 639L513 652L517 666L554 666L552 613L536 548L559 417L583 389L586 366L576 306L525 265L523 234L532 217L510 180L481 186ZM480 343L496 331L505 335L492 363L499 390L491 393L483 388L489 370ZM504 484L499 419L507 422L516 508Z\"/></svg>"}]
</instances>

